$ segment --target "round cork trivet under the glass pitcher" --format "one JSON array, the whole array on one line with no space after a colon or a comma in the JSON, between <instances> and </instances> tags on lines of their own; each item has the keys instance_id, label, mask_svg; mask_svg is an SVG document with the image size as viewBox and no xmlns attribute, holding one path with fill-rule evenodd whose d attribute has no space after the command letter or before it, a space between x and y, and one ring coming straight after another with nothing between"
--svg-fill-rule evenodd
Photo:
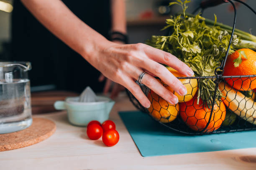
<instances>
[{"instance_id":1,"label":"round cork trivet under the glass pitcher","mask_svg":"<svg viewBox=\"0 0 256 170\"><path fill-rule=\"evenodd\" d=\"M15 150L46 140L56 130L53 121L44 118L33 118L30 127L18 132L0 134L0 151Z\"/></svg>"}]
</instances>

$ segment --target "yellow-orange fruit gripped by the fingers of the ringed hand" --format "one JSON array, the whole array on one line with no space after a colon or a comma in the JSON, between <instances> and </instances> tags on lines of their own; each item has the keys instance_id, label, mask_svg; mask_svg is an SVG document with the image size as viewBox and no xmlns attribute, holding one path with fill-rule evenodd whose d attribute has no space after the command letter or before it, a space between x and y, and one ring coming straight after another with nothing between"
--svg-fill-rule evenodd
<instances>
[{"instance_id":1,"label":"yellow-orange fruit gripped by the fingers of the ringed hand","mask_svg":"<svg viewBox=\"0 0 256 170\"><path fill-rule=\"evenodd\" d=\"M175 76L175 77L186 77L182 74L180 74L177 70L172 69L172 67L167 67L167 69ZM177 94L171 87L169 87L167 84L165 84L163 81L159 80L169 91L172 91L172 93L175 94L175 96L178 97L179 102L189 101L191 100L196 92L197 92L197 79L179 79L179 81L182 82L182 84L187 89L187 94L185 96L180 96Z\"/></svg>"}]
</instances>

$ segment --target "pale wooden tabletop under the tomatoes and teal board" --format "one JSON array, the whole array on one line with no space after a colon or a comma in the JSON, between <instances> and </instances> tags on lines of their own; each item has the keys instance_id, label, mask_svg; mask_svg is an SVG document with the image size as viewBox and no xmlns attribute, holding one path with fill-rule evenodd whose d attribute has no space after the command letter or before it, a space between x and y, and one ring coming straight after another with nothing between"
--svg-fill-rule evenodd
<instances>
[{"instance_id":1,"label":"pale wooden tabletop under the tomatoes and teal board","mask_svg":"<svg viewBox=\"0 0 256 170\"><path fill-rule=\"evenodd\" d=\"M110 119L120 141L114 147L89 140L86 128L70 125L65 112L35 115L53 120L56 132L36 145L0 152L0 170L256 170L256 148L142 157L117 114L135 108L125 96L116 101Z\"/></svg>"}]
</instances>

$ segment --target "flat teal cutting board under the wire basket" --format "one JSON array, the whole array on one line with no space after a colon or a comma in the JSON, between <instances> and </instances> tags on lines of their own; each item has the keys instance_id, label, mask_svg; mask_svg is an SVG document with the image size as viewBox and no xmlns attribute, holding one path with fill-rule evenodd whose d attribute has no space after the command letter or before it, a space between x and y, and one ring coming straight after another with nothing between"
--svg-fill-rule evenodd
<instances>
[{"instance_id":1,"label":"flat teal cutting board under the wire basket","mask_svg":"<svg viewBox=\"0 0 256 170\"><path fill-rule=\"evenodd\" d=\"M256 131L191 136L174 132L142 112L119 115L143 157L256 147Z\"/></svg>"}]
</instances>

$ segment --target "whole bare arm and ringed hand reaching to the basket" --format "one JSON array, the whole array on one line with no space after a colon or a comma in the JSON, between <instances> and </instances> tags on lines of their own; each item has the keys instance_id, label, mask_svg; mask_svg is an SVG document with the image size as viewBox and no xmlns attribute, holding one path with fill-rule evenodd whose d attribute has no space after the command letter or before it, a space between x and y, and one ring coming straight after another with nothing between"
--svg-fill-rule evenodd
<instances>
[{"instance_id":1,"label":"whole bare arm and ringed hand reaching to the basket","mask_svg":"<svg viewBox=\"0 0 256 170\"><path fill-rule=\"evenodd\" d=\"M77 18L60 0L22 2L46 28L108 79L125 86L144 107L150 107L151 103L135 80L145 84L171 104L178 103L177 96L152 75L158 76L179 95L187 94L181 81L160 64L164 63L184 76L193 76L193 71L172 54L142 43L120 45L110 42ZM144 71L148 74L144 74ZM86 74L90 73L84 73L84 76Z\"/></svg>"}]
</instances>

